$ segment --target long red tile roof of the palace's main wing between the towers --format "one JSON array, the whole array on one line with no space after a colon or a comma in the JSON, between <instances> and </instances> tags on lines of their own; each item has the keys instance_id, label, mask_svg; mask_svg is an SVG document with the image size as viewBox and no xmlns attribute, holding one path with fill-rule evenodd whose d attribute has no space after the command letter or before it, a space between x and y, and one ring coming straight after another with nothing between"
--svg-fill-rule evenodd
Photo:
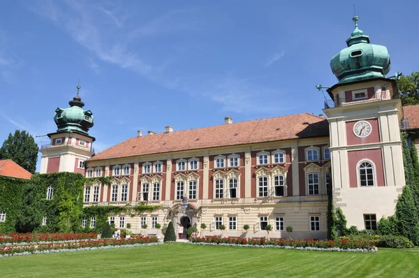
<instances>
[{"instance_id":1,"label":"long red tile roof of the palace's main wing between the towers","mask_svg":"<svg viewBox=\"0 0 419 278\"><path fill-rule=\"evenodd\" d=\"M89 161L319 136L329 136L327 119L302 113L133 137L99 152Z\"/></svg>"}]
</instances>

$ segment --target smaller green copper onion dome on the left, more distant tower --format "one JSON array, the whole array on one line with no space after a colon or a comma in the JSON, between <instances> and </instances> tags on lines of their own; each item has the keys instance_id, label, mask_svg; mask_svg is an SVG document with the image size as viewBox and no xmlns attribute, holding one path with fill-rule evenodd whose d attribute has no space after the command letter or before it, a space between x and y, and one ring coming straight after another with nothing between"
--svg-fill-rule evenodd
<instances>
[{"instance_id":1,"label":"smaller green copper onion dome on the left, more distant tower","mask_svg":"<svg viewBox=\"0 0 419 278\"><path fill-rule=\"evenodd\" d=\"M77 94L73 101L69 101L69 108L57 108L54 114L54 122L57 124L57 132L79 132L89 135L89 129L94 125L93 113L84 111L84 103L79 96L80 85L77 86Z\"/></svg>"}]
</instances>

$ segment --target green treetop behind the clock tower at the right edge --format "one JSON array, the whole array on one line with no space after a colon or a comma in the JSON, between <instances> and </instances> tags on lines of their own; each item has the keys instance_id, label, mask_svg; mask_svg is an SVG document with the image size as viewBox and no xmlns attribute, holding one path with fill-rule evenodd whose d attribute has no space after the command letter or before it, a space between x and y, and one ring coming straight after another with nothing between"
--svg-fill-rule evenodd
<instances>
[{"instance_id":1,"label":"green treetop behind the clock tower at the right edge","mask_svg":"<svg viewBox=\"0 0 419 278\"><path fill-rule=\"evenodd\" d=\"M419 104L419 71L411 75L402 75L397 80L397 89L403 106Z\"/></svg>"}]
</instances>

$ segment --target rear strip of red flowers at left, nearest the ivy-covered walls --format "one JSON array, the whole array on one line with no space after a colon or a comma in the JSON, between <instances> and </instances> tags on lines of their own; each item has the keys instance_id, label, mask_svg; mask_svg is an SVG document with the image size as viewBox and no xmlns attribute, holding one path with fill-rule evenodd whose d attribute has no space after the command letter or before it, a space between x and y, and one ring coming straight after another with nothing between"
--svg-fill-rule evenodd
<instances>
[{"instance_id":1,"label":"rear strip of red flowers at left, nearest the ivy-covered walls","mask_svg":"<svg viewBox=\"0 0 419 278\"><path fill-rule=\"evenodd\" d=\"M0 234L0 245L17 242L57 242L96 239L97 233L10 233Z\"/></svg>"}]
</instances>

